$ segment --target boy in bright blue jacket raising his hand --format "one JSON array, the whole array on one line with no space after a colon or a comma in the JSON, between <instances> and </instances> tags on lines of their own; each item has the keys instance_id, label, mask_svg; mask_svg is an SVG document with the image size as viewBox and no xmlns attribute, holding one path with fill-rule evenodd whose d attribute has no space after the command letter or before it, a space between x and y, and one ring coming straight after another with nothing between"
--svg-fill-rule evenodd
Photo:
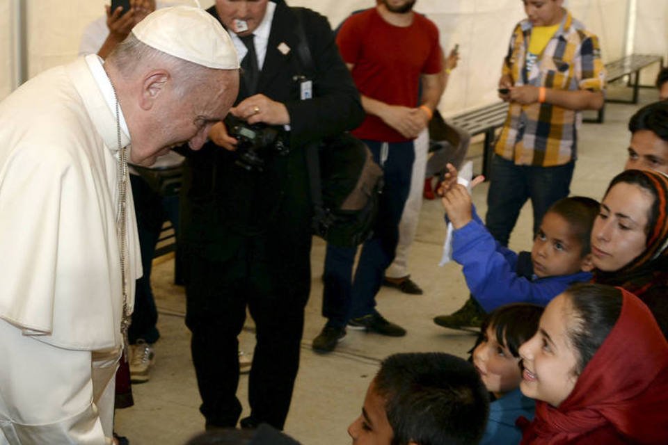
<instances>
[{"instance_id":1,"label":"boy in bright blue jacket raising his hand","mask_svg":"<svg viewBox=\"0 0 668 445\"><path fill-rule=\"evenodd\" d=\"M455 229L452 258L463 266L466 284L486 312L511 302L545 306L569 284L591 280L589 238L599 211L596 200L557 201L543 216L532 251L519 254L495 241L466 187L452 185L442 202Z\"/></svg>"}]
</instances>

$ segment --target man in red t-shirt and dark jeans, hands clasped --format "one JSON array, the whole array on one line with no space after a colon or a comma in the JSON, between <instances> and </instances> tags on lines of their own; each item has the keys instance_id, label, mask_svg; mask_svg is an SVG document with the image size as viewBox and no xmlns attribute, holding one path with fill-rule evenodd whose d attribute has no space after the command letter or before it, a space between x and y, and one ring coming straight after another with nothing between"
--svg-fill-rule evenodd
<instances>
[{"instance_id":1,"label":"man in red t-shirt and dark jeans, hands clasped","mask_svg":"<svg viewBox=\"0 0 668 445\"><path fill-rule=\"evenodd\" d=\"M399 220L411 186L413 140L427 127L443 94L443 54L436 25L413 12L415 0L377 3L376 8L351 15L336 41L367 113L352 133L383 167L385 185L374 236L363 245L354 281L356 249L327 246L323 315L328 321L313 341L320 352L335 348L346 335L346 325L391 337L406 334L376 311L375 297L395 257Z\"/></svg>"}]
</instances>

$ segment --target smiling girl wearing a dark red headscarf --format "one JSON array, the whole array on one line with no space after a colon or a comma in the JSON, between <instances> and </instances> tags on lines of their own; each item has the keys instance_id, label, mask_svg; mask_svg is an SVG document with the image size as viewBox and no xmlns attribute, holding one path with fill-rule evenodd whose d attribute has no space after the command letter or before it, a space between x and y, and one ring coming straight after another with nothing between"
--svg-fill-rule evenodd
<instances>
[{"instance_id":1,"label":"smiling girl wearing a dark red headscarf","mask_svg":"<svg viewBox=\"0 0 668 445\"><path fill-rule=\"evenodd\" d=\"M632 293L578 284L520 346L520 389L536 399L521 444L665 444L668 342Z\"/></svg>"}]
</instances>

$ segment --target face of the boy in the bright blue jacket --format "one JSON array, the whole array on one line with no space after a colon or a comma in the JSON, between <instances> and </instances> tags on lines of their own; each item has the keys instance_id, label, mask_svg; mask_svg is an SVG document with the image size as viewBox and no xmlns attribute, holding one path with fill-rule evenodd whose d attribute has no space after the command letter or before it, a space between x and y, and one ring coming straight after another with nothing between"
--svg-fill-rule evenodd
<instances>
[{"instance_id":1,"label":"face of the boy in the bright blue jacket","mask_svg":"<svg viewBox=\"0 0 668 445\"><path fill-rule=\"evenodd\" d=\"M582 243L571 233L566 219L548 211L534 238L531 250L534 273L538 277L571 275L582 270Z\"/></svg>"}]
</instances>

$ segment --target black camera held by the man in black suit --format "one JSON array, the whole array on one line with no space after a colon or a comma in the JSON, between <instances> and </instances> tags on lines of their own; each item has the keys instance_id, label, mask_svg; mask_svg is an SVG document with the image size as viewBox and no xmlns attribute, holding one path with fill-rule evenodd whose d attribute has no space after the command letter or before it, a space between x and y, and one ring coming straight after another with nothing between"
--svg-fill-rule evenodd
<instances>
[{"instance_id":1,"label":"black camera held by the man in black suit","mask_svg":"<svg viewBox=\"0 0 668 445\"><path fill-rule=\"evenodd\" d=\"M248 124L245 120L231 114L223 121L228 134L237 139L237 161L239 167L250 171L262 172L264 159L271 152L285 155L287 145L283 142L283 131L267 124Z\"/></svg>"}]
</instances>

